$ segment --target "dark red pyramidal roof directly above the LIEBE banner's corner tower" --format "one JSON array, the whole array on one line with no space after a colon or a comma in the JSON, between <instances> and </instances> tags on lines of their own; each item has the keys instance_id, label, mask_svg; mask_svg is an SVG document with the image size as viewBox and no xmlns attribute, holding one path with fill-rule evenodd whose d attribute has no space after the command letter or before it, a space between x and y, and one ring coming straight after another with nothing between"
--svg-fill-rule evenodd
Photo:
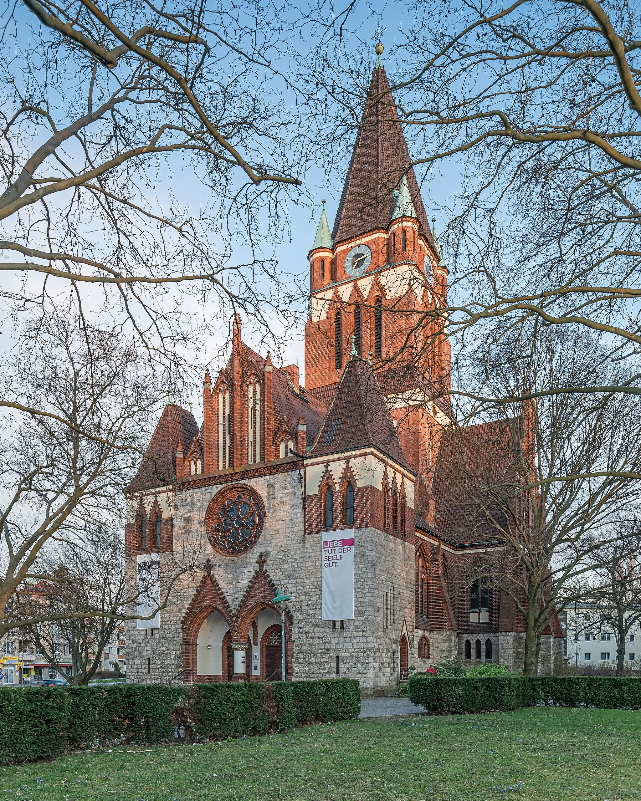
<instances>
[{"instance_id":1,"label":"dark red pyramidal roof directly above the LIEBE banner's corner tower","mask_svg":"<svg viewBox=\"0 0 641 801\"><path fill-rule=\"evenodd\" d=\"M374 447L414 473L369 363L353 356L345 366L309 457Z\"/></svg>"}]
</instances>

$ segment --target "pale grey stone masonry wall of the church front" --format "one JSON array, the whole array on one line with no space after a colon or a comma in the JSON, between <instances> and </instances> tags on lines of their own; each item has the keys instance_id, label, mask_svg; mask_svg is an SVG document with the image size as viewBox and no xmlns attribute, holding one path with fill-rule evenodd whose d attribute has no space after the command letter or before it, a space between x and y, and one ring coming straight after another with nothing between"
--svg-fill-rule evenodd
<instances>
[{"instance_id":1,"label":"pale grey stone masonry wall of the church front","mask_svg":"<svg viewBox=\"0 0 641 801\"><path fill-rule=\"evenodd\" d=\"M175 582L167 608L160 612L160 628L139 629L127 623L127 681L167 683L183 670L182 620L212 562L212 576L232 610L236 610L263 553L264 569L279 590L292 596L294 679L330 678L341 657L341 677L359 678L364 692L393 687L397 677L397 641L403 621L413 642L413 543L377 531L356 529L354 535L353 621L333 630L320 617L320 539L305 536L300 479L288 473L230 479L256 490L265 505L264 529L256 545L239 557L224 557L208 542L204 516L220 485L198 487L174 495L174 554L161 554L161 594L181 567L196 564ZM135 586L135 557L127 559ZM131 586L131 585L130 585ZM141 624L142 625L142 624ZM147 635L147 636L146 636ZM149 660L149 662L147 662ZM183 682L183 676L174 679Z\"/></svg>"}]
</instances>

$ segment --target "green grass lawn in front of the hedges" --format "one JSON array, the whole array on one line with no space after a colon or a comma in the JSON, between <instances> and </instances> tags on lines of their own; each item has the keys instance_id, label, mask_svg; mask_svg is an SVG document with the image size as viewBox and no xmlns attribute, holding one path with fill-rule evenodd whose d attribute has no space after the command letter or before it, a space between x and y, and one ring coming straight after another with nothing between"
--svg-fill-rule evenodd
<instances>
[{"instance_id":1,"label":"green grass lawn in front of the hedges","mask_svg":"<svg viewBox=\"0 0 641 801\"><path fill-rule=\"evenodd\" d=\"M641 712L409 715L0 769L0 801L638 799Z\"/></svg>"}]
</instances>

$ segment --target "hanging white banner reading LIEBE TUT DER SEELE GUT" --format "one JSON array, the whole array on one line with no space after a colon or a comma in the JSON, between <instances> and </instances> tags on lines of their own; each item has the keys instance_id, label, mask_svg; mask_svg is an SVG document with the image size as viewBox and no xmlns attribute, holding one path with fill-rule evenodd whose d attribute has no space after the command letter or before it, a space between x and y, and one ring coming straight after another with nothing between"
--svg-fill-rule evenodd
<instances>
[{"instance_id":1,"label":"hanging white banner reading LIEBE TUT DER SEELE GUT","mask_svg":"<svg viewBox=\"0 0 641 801\"><path fill-rule=\"evenodd\" d=\"M323 620L354 619L354 529L324 531L321 537Z\"/></svg>"}]
</instances>

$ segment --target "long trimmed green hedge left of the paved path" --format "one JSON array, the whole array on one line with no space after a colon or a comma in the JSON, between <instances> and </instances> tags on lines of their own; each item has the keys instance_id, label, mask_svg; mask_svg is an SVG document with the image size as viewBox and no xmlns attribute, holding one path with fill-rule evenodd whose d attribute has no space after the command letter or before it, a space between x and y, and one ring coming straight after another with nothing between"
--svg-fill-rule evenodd
<instances>
[{"instance_id":1,"label":"long trimmed green hedge left of the paved path","mask_svg":"<svg viewBox=\"0 0 641 801\"><path fill-rule=\"evenodd\" d=\"M268 684L119 684L0 687L0 764L57 756L66 748L204 741L264 735L301 723L357 718L355 679Z\"/></svg>"}]
</instances>

